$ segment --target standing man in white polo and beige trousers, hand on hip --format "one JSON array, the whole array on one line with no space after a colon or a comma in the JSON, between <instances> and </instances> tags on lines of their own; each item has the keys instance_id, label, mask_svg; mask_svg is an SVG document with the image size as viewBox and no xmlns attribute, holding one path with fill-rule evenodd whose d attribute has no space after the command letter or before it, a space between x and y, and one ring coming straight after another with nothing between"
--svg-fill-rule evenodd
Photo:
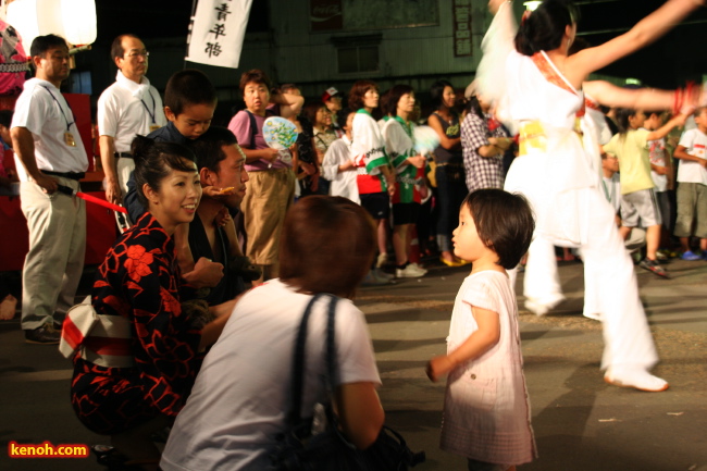
<instances>
[{"instance_id":1,"label":"standing man in white polo and beige trousers, hand on hip","mask_svg":"<svg viewBox=\"0 0 707 471\"><path fill-rule=\"evenodd\" d=\"M59 87L69 77L69 48L55 35L32 42L35 78L15 104L12 136L29 251L22 274L22 329L30 344L59 344L59 326L84 269L86 206L62 187L80 190L88 169L76 120ZM20 165L22 163L22 165Z\"/></svg>"}]
</instances>

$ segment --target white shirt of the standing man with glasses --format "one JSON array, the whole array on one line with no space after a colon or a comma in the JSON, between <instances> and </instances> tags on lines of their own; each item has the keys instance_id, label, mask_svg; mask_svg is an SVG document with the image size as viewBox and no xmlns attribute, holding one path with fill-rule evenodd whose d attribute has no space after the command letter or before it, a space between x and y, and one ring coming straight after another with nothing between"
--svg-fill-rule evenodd
<instances>
[{"instance_id":1,"label":"white shirt of the standing man with glasses","mask_svg":"<svg viewBox=\"0 0 707 471\"><path fill-rule=\"evenodd\" d=\"M112 137L117 152L129 152L136 135L166 125L163 108L147 77L136 84L119 70L115 83L98 99L98 135Z\"/></svg>"}]
</instances>

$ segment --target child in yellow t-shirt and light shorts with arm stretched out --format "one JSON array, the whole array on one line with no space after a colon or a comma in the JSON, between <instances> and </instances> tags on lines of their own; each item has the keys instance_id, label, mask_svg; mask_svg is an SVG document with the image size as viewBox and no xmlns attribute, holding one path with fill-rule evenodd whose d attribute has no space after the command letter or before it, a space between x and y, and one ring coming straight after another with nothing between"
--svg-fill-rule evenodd
<instances>
[{"instance_id":1,"label":"child in yellow t-shirt and light shorts with arm stretched out","mask_svg":"<svg viewBox=\"0 0 707 471\"><path fill-rule=\"evenodd\" d=\"M619 158L621 175L622 222L619 230L625 239L632 227L646 227L646 257L641 268L658 276L668 277L668 272L658 263L657 250L660 244L660 210L656 202L655 184L650 177L648 141L661 139L670 131L684 124L685 115L679 114L656 131L643 128L646 115L642 110L620 108L616 112L619 134L603 147L604 152Z\"/></svg>"}]
</instances>

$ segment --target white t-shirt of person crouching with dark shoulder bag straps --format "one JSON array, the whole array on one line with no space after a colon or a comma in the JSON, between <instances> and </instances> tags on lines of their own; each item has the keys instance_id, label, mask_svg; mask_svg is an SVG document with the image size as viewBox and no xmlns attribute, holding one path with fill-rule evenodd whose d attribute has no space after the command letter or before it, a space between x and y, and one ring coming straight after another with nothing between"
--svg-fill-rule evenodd
<instances>
[{"instance_id":1,"label":"white t-shirt of person crouching with dark shoulder bag straps","mask_svg":"<svg viewBox=\"0 0 707 471\"><path fill-rule=\"evenodd\" d=\"M211 348L186 406L177 416L160 466L172 470L265 470L290 409L293 351L310 295L280 280L248 292ZM301 413L325 398L328 299L309 320ZM365 320L351 301L336 308L335 384L380 384Z\"/></svg>"}]
</instances>

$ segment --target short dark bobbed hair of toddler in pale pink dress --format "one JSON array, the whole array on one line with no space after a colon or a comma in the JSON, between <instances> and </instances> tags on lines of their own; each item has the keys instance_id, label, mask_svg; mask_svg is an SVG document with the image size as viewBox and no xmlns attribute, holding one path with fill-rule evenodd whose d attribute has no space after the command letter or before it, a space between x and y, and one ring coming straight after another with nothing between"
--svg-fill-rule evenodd
<instances>
[{"instance_id":1,"label":"short dark bobbed hair of toddler in pale pink dress","mask_svg":"<svg viewBox=\"0 0 707 471\"><path fill-rule=\"evenodd\" d=\"M469 208L481 240L498 255L497 263L506 270L514 269L528 252L535 231L528 200L519 194L485 188L470 193L463 206Z\"/></svg>"}]
</instances>

